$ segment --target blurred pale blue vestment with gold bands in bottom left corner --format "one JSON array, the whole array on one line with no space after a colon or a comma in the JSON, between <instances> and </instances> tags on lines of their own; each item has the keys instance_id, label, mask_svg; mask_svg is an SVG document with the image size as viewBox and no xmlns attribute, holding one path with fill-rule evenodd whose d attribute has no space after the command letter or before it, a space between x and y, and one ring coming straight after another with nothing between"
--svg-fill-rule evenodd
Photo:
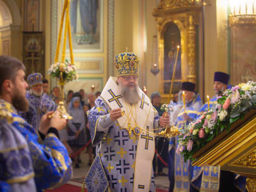
<instances>
[{"instance_id":1,"label":"blurred pale blue vestment with gold bands in bottom left corner","mask_svg":"<svg viewBox=\"0 0 256 192\"><path fill-rule=\"evenodd\" d=\"M26 139L0 106L0 191L35 192L34 168Z\"/></svg>"}]
</instances>

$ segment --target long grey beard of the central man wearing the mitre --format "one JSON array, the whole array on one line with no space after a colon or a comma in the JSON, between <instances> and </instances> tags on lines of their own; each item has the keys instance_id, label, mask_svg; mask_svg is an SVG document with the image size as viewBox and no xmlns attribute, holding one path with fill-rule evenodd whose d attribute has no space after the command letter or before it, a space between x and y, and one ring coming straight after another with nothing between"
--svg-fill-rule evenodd
<instances>
[{"instance_id":1,"label":"long grey beard of the central man wearing the mitre","mask_svg":"<svg viewBox=\"0 0 256 192\"><path fill-rule=\"evenodd\" d=\"M129 102L129 104L137 104L137 102L140 101L140 96L138 94L138 86L132 88L124 87L124 85L120 81L118 87L121 89L121 95L123 96L124 100L126 102Z\"/></svg>"}]
</instances>

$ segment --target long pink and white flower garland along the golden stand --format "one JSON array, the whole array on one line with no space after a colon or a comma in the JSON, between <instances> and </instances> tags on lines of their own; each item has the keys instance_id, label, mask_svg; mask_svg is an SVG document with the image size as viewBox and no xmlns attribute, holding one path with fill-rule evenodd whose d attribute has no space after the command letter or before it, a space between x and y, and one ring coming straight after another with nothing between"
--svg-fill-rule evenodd
<instances>
[{"instance_id":1,"label":"long pink and white flower garland along the golden stand","mask_svg":"<svg viewBox=\"0 0 256 192\"><path fill-rule=\"evenodd\" d=\"M180 130L176 152L184 160L193 160L193 154L219 135L224 129L229 132L230 126L245 113L256 108L256 82L239 84L227 89L217 98L217 104L208 109L199 118Z\"/></svg>"}]
</instances>

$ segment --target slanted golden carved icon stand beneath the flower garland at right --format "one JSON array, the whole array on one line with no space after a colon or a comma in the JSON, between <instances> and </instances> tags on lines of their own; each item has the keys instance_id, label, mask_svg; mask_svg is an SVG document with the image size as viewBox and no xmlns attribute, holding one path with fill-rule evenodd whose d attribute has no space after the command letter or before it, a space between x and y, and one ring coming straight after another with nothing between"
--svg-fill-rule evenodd
<instances>
[{"instance_id":1,"label":"slanted golden carved icon stand beneath the flower garland at right","mask_svg":"<svg viewBox=\"0 0 256 192\"><path fill-rule=\"evenodd\" d=\"M246 188L256 191L256 110L249 111L218 137L197 151L193 166L220 166L246 176Z\"/></svg>"}]
</instances>

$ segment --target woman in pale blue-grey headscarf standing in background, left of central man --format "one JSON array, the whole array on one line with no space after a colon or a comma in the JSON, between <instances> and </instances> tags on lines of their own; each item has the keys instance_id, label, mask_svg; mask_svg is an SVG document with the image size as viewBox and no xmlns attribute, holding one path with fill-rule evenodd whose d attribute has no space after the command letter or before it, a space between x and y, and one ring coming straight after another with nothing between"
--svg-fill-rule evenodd
<instances>
[{"instance_id":1,"label":"woman in pale blue-grey headscarf standing in background, left of central man","mask_svg":"<svg viewBox=\"0 0 256 192\"><path fill-rule=\"evenodd\" d=\"M87 143L87 135L85 133L85 114L80 101L80 96L74 94L68 106L69 115L73 116L68 121L68 144L74 152L82 148ZM79 155L74 157L75 167L79 168Z\"/></svg>"}]
</instances>

